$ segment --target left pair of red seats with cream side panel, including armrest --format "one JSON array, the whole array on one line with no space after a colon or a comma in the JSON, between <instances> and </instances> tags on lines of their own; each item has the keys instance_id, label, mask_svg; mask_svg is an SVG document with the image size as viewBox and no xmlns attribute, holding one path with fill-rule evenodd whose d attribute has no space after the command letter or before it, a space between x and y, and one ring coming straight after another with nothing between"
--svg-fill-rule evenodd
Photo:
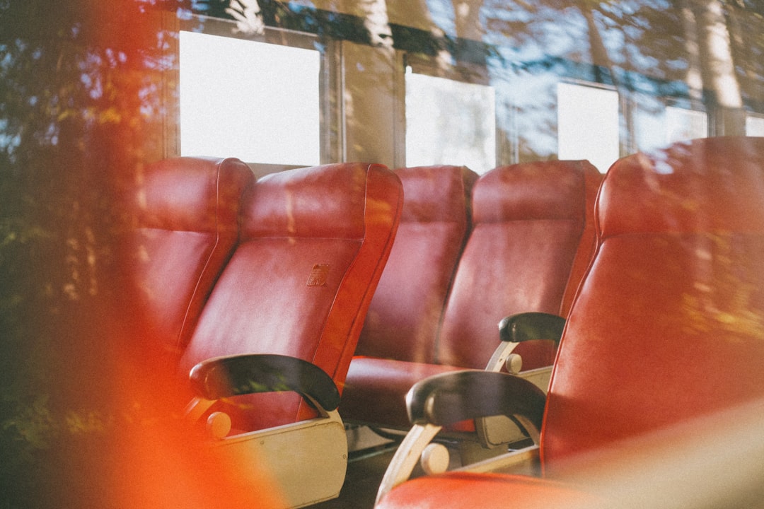
<instances>
[{"instance_id":1,"label":"left pair of red seats with cream side panel, including armrest","mask_svg":"<svg viewBox=\"0 0 764 509\"><path fill-rule=\"evenodd\" d=\"M124 293L143 372L175 373L156 397L168 414L187 404L182 422L211 435L196 446L230 463L215 475L252 483L242 492L264 473L290 507L342 487L336 409L402 201L393 172L360 163L255 181L238 159L183 157L125 190Z\"/></svg>"}]
</instances>

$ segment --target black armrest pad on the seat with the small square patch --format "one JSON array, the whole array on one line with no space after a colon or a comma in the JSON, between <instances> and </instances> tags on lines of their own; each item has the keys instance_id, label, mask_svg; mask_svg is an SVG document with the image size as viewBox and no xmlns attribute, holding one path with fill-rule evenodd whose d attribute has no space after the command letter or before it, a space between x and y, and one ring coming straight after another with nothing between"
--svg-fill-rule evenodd
<instances>
[{"instance_id":1,"label":"black armrest pad on the seat with the small square patch","mask_svg":"<svg viewBox=\"0 0 764 509\"><path fill-rule=\"evenodd\" d=\"M321 368L295 357L247 354L199 362L189 374L202 398L215 400L255 392L294 391L315 400L325 410L339 405L339 391Z\"/></svg>"}]
</instances>

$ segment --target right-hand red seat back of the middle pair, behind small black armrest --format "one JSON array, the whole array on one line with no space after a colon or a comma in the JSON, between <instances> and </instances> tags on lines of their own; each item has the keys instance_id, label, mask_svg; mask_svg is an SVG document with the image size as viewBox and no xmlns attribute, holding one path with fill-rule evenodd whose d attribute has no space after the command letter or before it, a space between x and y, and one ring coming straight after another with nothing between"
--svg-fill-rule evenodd
<instances>
[{"instance_id":1,"label":"right-hand red seat back of the middle pair, behind small black armrest","mask_svg":"<svg viewBox=\"0 0 764 509\"><path fill-rule=\"evenodd\" d=\"M524 163L478 179L472 232L445 308L439 363L483 369L499 343L501 318L523 311L559 313L584 230L588 166ZM549 343L518 346L523 369L551 365L555 350Z\"/></svg>"}]
</instances>

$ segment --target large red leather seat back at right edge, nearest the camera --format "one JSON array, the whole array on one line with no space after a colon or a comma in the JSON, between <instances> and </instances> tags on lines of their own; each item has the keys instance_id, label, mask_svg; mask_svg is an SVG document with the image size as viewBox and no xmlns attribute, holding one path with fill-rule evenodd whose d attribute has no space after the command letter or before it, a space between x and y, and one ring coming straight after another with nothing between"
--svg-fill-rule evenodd
<instances>
[{"instance_id":1,"label":"large red leather seat back at right edge, nearest the camera","mask_svg":"<svg viewBox=\"0 0 764 509\"><path fill-rule=\"evenodd\" d=\"M764 395L764 138L613 165L547 401L553 461Z\"/></svg>"}]
</instances>

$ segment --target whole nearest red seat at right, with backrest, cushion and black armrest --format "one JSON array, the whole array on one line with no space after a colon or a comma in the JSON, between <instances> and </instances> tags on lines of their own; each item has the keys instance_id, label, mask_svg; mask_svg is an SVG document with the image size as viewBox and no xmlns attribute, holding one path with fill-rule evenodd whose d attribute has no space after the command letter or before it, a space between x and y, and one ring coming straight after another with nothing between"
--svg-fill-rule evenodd
<instances>
[{"instance_id":1,"label":"whole nearest red seat at right, with backrest, cushion and black armrest","mask_svg":"<svg viewBox=\"0 0 764 509\"><path fill-rule=\"evenodd\" d=\"M526 418L541 428L537 452L548 480L564 480L576 470L594 472L596 477L576 478L592 484L568 485L579 495L601 495L610 474L628 483L643 482L649 472L666 489L672 486L663 478L698 489L720 482L727 472L714 469L716 457L702 466L684 461L697 459L695 450L711 449L720 466L730 466L734 459L727 450L713 446L716 440L729 446L724 429L742 418L741 411L746 427L757 426L760 437L762 196L764 138L694 140L621 159L601 187L597 252L568 315L547 397L526 394L519 401L525 408L513 408L513 390L529 390L528 384L501 373L461 373L457 382L430 379L410 394L415 430L478 414ZM481 393L493 397L481 399ZM754 413L746 413L746 406ZM661 449L640 456L650 444ZM678 449L660 452L670 447ZM762 450L761 440L751 447ZM398 457L411 453L400 450ZM742 466L745 452L733 456ZM509 458L502 459L505 466ZM632 458L643 461L643 469L634 468L636 462L623 465ZM667 463L671 468L662 470ZM618 468L629 470L613 472ZM701 471L715 477L696 477ZM417 478L388 493L403 477L387 472L378 507L536 507L539 490L547 493L538 484L543 479L529 489L523 476L479 473ZM758 486L760 474L754 478ZM490 491L483 489L488 484ZM621 488L633 497L652 486ZM682 493L688 497L692 491ZM746 492L723 487L717 495L731 499ZM575 501L571 496L567 502Z\"/></svg>"}]
</instances>

